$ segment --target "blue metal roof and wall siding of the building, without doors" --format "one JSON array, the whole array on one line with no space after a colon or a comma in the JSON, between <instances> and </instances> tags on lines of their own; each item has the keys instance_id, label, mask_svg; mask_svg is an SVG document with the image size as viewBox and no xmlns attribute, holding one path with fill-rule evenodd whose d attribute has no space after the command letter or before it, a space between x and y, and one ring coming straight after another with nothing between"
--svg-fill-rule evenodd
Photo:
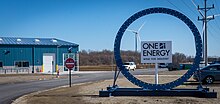
<instances>
[{"instance_id":1,"label":"blue metal roof and wall siding of the building, without doors","mask_svg":"<svg viewBox=\"0 0 220 104\"><path fill-rule=\"evenodd\" d=\"M13 68L16 61L27 61L34 73L35 66L43 65L45 53L54 54L54 65L62 66L63 53L68 53L70 47L72 53L77 53L79 50L78 44L55 38L38 38L36 41L35 38L0 37L0 62L3 63L3 67Z\"/></svg>"}]
</instances>

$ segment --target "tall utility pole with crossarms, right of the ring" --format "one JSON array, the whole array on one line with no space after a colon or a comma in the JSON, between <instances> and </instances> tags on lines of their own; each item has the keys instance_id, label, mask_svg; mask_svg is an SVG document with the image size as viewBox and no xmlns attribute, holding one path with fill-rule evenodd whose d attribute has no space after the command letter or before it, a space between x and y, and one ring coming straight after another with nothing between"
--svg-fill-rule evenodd
<instances>
[{"instance_id":1,"label":"tall utility pole with crossarms, right of the ring","mask_svg":"<svg viewBox=\"0 0 220 104\"><path fill-rule=\"evenodd\" d=\"M204 58L204 61L205 61L205 66L207 66L208 64L208 54L207 54L207 49L208 49L208 39L207 39L207 22L210 21L210 20L213 20L214 19L214 15L213 16L208 16L207 17L207 12L210 10L210 9L214 9L214 4L212 5L212 7L207 7L207 0L204 0L205 2L205 7L204 8L200 8L198 6L198 10L202 10L204 11L204 16L202 17L202 19L200 19L198 17L198 20L199 21L203 21L203 25L204 25L204 29L205 29L205 33L204 33L204 41L203 41L203 58Z\"/></svg>"}]
</instances>

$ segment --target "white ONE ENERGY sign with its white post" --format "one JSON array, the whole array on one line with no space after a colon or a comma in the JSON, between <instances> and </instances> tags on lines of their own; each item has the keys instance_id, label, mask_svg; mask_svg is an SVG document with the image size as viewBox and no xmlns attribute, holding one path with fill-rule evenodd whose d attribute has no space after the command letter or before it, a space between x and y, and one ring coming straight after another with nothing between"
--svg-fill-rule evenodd
<instances>
[{"instance_id":1,"label":"white ONE ENERGY sign with its white post","mask_svg":"<svg viewBox=\"0 0 220 104\"><path fill-rule=\"evenodd\" d=\"M158 63L172 63L172 42L142 41L141 63L155 63L155 84L158 84Z\"/></svg>"}]
</instances>

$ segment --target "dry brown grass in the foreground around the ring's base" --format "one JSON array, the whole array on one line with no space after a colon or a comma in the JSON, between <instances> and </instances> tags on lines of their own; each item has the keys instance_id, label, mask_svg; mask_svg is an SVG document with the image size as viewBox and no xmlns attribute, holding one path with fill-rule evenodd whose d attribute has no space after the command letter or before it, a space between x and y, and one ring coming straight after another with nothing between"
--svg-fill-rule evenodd
<instances>
[{"instance_id":1,"label":"dry brown grass in the foreground around the ring's base","mask_svg":"<svg viewBox=\"0 0 220 104\"><path fill-rule=\"evenodd\" d=\"M172 71L161 73L160 81L169 82L177 79L179 75L185 71ZM168 76L166 76L168 75ZM140 79L153 83L154 76L145 75L137 76ZM84 84L73 85L69 87L61 87L38 94L26 96L24 103L19 104L218 104L220 93L220 85L209 86L218 92L218 98L195 98L195 97L98 97L101 89L106 89L112 85L113 80L105 80L99 82L89 82ZM137 87L130 83L127 79L118 79L117 84L120 87ZM196 88L195 85L181 85L179 88Z\"/></svg>"}]
</instances>

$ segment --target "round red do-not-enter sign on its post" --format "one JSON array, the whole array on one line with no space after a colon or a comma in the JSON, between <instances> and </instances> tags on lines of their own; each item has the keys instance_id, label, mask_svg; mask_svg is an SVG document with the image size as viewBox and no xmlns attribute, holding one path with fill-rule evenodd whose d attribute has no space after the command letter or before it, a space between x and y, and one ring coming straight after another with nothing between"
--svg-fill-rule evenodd
<instances>
[{"instance_id":1,"label":"round red do-not-enter sign on its post","mask_svg":"<svg viewBox=\"0 0 220 104\"><path fill-rule=\"evenodd\" d=\"M69 86L71 87L71 70L75 66L75 61L72 58L68 58L65 61L65 66L69 69Z\"/></svg>"}]
</instances>

